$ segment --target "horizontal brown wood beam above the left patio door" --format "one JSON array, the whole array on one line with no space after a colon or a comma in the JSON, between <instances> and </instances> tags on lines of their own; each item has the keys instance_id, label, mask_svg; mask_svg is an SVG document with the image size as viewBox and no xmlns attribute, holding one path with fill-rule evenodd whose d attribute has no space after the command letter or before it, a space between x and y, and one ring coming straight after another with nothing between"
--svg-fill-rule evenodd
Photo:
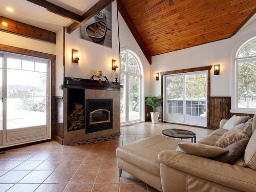
<instances>
[{"instance_id":1,"label":"horizontal brown wood beam above the left patio door","mask_svg":"<svg viewBox=\"0 0 256 192\"><path fill-rule=\"evenodd\" d=\"M7 26L3 25L2 22L7 23ZM0 16L0 30L24 35L39 40L45 40L56 44L56 33L22 22L17 22L16 20L3 16Z\"/></svg>"}]
</instances>

